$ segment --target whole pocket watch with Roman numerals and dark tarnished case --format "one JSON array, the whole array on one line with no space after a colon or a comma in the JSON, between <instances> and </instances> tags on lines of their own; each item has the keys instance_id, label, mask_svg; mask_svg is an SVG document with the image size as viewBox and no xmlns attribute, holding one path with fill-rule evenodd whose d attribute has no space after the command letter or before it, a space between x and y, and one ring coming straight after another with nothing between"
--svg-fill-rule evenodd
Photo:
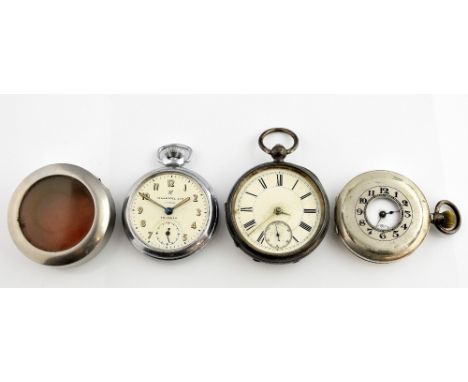
<instances>
[{"instance_id":1,"label":"whole pocket watch with Roman numerals and dark tarnished case","mask_svg":"<svg viewBox=\"0 0 468 382\"><path fill-rule=\"evenodd\" d=\"M266 147L264 139L272 133L289 135L292 147ZM273 161L242 175L226 203L227 225L235 244L256 261L297 262L327 232L329 203L320 181L308 169L284 161L298 143L291 130L265 131L259 145Z\"/></svg>"}]
</instances>

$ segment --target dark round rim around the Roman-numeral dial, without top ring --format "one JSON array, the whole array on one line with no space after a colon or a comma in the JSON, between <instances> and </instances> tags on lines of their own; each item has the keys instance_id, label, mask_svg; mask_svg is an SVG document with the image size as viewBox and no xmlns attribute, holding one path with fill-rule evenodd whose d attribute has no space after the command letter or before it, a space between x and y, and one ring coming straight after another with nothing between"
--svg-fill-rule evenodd
<instances>
[{"instance_id":1,"label":"dark round rim around the Roman-numeral dial, without top ring","mask_svg":"<svg viewBox=\"0 0 468 382\"><path fill-rule=\"evenodd\" d=\"M244 182L246 182L250 177L254 176L260 171L282 168L298 172L302 176L309 178L313 183L315 183L317 189L320 191L320 194L322 196L324 211L322 214L322 218L318 223L319 229L317 230L317 233L308 241L308 243L298 250L295 250L291 253L283 254L281 257L279 257L271 255L267 252L259 251L243 240L242 234L240 233L234 219L234 201L242 184L244 184ZM330 203L328 201L327 194L325 193L322 184L318 180L317 176L310 170L289 162L267 162L250 169L249 171L244 173L236 182L226 202L226 221L229 233L231 234L235 244L247 255L251 256L254 260L272 264L296 263L302 260L307 255L309 255L315 248L317 248L322 242L323 238L325 237L330 223Z\"/></svg>"}]
</instances>

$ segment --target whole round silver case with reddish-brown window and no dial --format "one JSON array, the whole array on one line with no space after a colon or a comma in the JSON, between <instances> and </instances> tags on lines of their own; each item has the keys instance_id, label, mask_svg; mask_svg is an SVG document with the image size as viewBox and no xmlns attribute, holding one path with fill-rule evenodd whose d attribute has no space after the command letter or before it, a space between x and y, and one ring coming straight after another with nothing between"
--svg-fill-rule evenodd
<instances>
[{"instance_id":1,"label":"whole round silver case with reddish-brown window and no dial","mask_svg":"<svg viewBox=\"0 0 468 382\"><path fill-rule=\"evenodd\" d=\"M84 168L57 163L27 176L10 202L8 227L18 249L51 266L83 262L110 239L114 201Z\"/></svg>"}]
</instances>

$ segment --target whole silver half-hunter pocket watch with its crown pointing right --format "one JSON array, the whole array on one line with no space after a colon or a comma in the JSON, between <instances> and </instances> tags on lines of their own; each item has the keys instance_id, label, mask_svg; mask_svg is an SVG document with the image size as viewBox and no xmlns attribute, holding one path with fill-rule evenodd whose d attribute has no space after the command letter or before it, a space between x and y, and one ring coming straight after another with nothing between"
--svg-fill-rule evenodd
<instances>
[{"instance_id":1,"label":"whole silver half-hunter pocket watch with its crown pointing right","mask_svg":"<svg viewBox=\"0 0 468 382\"><path fill-rule=\"evenodd\" d=\"M346 247L374 263L389 263L413 253L431 223L448 235L461 226L453 203L442 200L430 213L418 186L390 171L371 171L352 179L337 199L335 220Z\"/></svg>"}]
</instances>

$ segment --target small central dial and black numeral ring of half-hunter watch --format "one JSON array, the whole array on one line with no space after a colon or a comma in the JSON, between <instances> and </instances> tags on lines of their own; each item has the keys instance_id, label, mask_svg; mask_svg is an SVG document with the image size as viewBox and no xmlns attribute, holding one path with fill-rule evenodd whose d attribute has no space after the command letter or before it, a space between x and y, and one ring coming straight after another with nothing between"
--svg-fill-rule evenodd
<instances>
[{"instance_id":1,"label":"small central dial and black numeral ring of half-hunter watch","mask_svg":"<svg viewBox=\"0 0 468 382\"><path fill-rule=\"evenodd\" d=\"M355 209L361 230L376 240L394 240L411 226L413 209L408 198L392 187L373 187L359 198Z\"/></svg>"}]
</instances>

